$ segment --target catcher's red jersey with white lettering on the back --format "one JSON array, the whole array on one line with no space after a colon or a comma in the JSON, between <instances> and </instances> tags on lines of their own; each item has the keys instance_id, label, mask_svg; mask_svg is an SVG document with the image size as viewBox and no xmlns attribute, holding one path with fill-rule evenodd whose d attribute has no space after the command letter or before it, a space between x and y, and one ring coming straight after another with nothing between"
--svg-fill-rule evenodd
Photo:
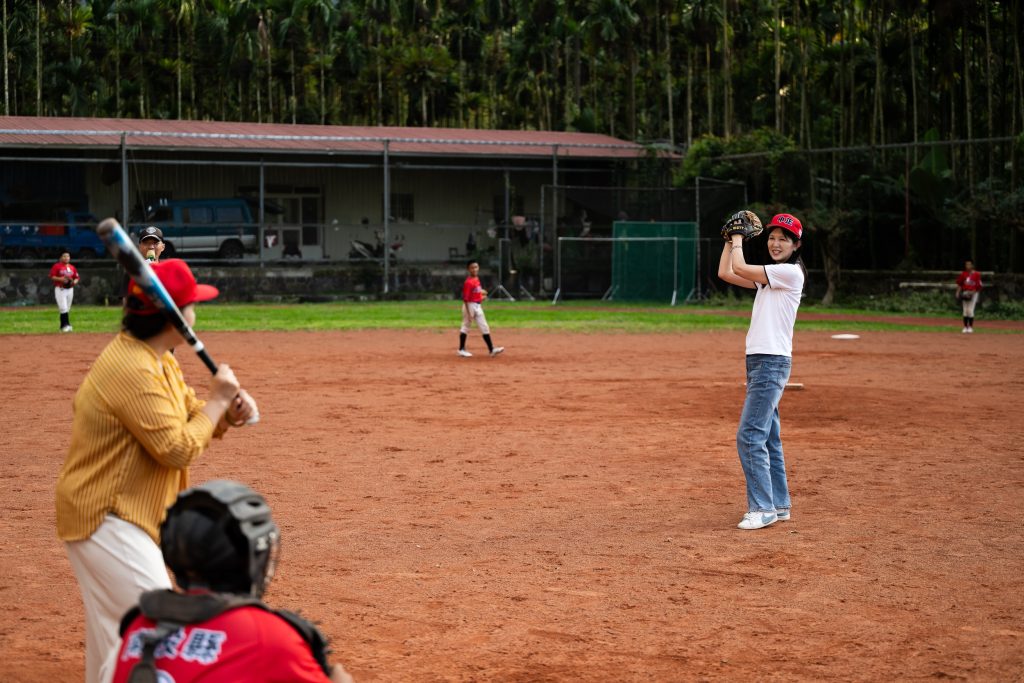
<instances>
[{"instance_id":1,"label":"catcher's red jersey with white lettering on the back","mask_svg":"<svg viewBox=\"0 0 1024 683\"><path fill-rule=\"evenodd\" d=\"M121 641L114 683L125 683L142 656L140 634L156 623L132 622ZM298 632L260 607L238 607L178 629L156 651L158 680L173 683L329 683Z\"/></svg>"}]
</instances>

